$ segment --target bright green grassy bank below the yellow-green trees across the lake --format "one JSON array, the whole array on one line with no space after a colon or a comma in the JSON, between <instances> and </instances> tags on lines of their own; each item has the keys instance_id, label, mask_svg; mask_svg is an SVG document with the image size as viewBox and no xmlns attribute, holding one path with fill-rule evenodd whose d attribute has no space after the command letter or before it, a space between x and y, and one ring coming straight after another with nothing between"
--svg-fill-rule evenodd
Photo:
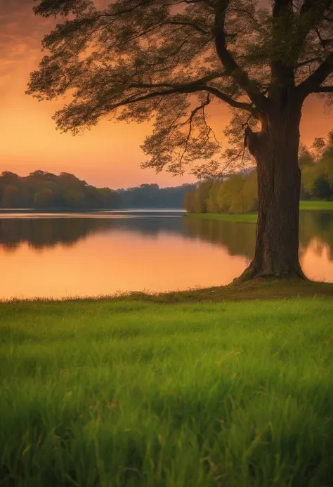
<instances>
[{"instance_id":1,"label":"bright green grassy bank below the yellow-green trees across the lake","mask_svg":"<svg viewBox=\"0 0 333 487\"><path fill-rule=\"evenodd\" d=\"M333 201L301 201L299 203L301 211L331 211L333 212ZM256 223L256 213L243 214L224 214L224 213L188 213L185 216L194 216L196 218L214 219L223 221L236 221L243 223Z\"/></svg>"}]
</instances>

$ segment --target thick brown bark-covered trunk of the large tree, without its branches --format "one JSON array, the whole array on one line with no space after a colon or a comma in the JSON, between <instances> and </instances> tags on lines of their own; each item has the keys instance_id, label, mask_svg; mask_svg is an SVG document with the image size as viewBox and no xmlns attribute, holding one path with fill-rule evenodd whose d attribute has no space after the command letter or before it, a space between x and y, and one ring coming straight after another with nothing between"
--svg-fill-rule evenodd
<instances>
[{"instance_id":1,"label":"thick brown bark-covered trunk of the large tree, without its branches","mask_svg":"<svg viewBox=\"0 0 333 487\"><path fill-rule=\"evenodd\" d=\"M254 259L241 280L306 279L299 264L300 121L301 106L290 104L266 116L261 132L246 131L257 164L258 222Z\"/></svg>"}]
</instances>

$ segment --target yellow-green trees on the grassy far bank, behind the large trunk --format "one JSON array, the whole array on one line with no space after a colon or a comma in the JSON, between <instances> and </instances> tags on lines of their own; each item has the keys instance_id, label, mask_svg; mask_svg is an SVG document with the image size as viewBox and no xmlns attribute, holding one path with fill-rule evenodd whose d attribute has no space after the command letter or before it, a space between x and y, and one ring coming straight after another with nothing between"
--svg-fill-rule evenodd
<instances>
[{"instance_id":1,"label":"yellow-green trees on the grassy far bank, behind the large trunk","mask_svg":"<svg viewBox=\"0 0 333 487\"><path fill-rule=\"evenodd\" d=\"M299 148L301 200L333 200L333 131L327 138L315 138L311 148ZM184 206L190 213L256 212L256 170L225 176L222 181L204 181L185 195Z\"/></svg>"}]
</instances>

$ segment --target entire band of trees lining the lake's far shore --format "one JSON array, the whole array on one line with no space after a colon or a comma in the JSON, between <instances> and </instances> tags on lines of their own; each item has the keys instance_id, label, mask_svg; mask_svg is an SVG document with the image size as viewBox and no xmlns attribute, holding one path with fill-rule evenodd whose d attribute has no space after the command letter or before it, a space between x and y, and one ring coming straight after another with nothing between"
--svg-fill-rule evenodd
<instances>
[{"instance_id":1,"label":"entire band of trees lining the lake's far shore","mask_svg":"<svg viewBox=\"0 0 333 487\"><path fill-rule=\"evenodd\" d=\"M333 200L333 130L315 138L311 148L299 148L301 200ZM138 209L183 208L190 213L249 213L257 209L256 170L223 176L219 181L159 188L141 184L112 190L96 188L74 174L58 176L33 171L18 176L0 175L1 208L34 209Z\"/></svg>"}]
</instances>

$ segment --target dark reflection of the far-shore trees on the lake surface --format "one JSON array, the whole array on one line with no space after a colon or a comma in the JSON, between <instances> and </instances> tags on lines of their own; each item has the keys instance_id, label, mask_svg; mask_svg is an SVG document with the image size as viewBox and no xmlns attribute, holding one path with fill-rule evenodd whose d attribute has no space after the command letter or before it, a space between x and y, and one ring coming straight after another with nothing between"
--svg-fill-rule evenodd
<instances>
[{"instance_id":1,"label":"dark reflection of the far-shore trees on the lake surface","mask_svg":"<svg viewBox=\"0 0 333 487\"><path fill-rule=\"evenodd\" d=\"M145 216L137 212L127 214L95 213L85 216L46 216L34 218L20 214L11 218L0 216L0 246L12 252L27 242L33 249L41 250L56 245L71 247L96 233L126 230L149 237L163 233L183 235L183 238L197 238L204 242L223 245L231 256L252 259L256 240L255 225L212 219L191 218L166 214L158 216L151 212ZM328 249L329 260L333 260L333 213L301 212L299 222L300 254L311 247L321 255ZM315 241L315 245L314 245Z\"/></svg>"}]
</instances>

